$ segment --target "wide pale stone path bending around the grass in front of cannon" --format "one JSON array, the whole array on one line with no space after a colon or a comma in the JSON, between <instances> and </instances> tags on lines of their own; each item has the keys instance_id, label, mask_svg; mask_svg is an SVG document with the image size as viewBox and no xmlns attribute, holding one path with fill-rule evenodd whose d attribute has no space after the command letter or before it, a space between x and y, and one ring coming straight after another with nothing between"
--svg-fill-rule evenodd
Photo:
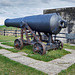
<instances>
[{"instance_id":1,"label":"wide pale stone path bending around the grass in front of cannon","mask_svg":"<svg viewBox=\"0 0 75 75\"><path fill-rule=\"evenodd\" d=\"M61 58L55 59L50 62L43 62L26 57L23 53L13 53L11 51L0 49L0 54L20 62L21 64L28 65L30 67L36 68L37 70L48 73L48 75L56 75L61 70L67 69L69 66L75 63L75 50L66 49L72 52L72 54L67 54Z\"/></svg>"}]
</instances>

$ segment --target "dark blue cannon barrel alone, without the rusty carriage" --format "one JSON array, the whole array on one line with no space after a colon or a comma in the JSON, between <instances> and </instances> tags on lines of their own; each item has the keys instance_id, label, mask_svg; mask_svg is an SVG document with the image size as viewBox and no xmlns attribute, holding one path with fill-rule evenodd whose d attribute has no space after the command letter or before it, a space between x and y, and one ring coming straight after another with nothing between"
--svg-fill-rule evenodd
<instances>
[{"instance_id":1,"label":"dark blue cannon barrel alone, without the rusty carriage","mask_svg":"<svg viewBox=\"0 0 75 75\"><path fill-rule=\"evenodd\" d=\"M22 27L22 22L26 22L33 31L57 34L61 28L66 27L66 21L56 13L27 16L15 19L6 19L5 25L12 27Z\"/></svg>"}]
</instances>

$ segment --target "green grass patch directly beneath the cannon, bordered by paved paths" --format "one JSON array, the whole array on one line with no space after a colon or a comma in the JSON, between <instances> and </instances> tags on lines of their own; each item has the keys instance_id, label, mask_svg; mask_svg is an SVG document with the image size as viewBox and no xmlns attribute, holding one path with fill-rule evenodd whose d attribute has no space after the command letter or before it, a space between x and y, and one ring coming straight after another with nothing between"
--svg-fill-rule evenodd
<instances>
[{"instance_id":1,"label":"green grass patch directly beneath the cannon, bordered by paved paths","mask_svg":"<svg viewBox=\"0 0 75 75\"><path fill-rule=\"evenodd\" d=\"M14 42L4 42L2 44L14 46ZM24 48L22 50L16 50L14 48L7 49L7 50L12 51L12 52L25 52L28 54L27 55L28 57L31 57L31 58L34 58L37 60L41 60L41 61L45 61L45 62L54 60L56 58L60 58L64 55L70 53L64 49L62 49L62 50L50 50L50 51L47 51L47 53L45 55L41 56L39 54L34 54L32 49L33 49L33 46L24 46Z\"/></svg>"}]
</instances>

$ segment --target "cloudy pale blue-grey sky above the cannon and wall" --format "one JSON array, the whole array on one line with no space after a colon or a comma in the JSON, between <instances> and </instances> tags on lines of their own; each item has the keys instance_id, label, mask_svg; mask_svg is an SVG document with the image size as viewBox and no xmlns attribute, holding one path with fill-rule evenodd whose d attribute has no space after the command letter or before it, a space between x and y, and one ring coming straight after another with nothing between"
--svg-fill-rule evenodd
<instances>
[{"instance_id":1,"label":"cloudy pale blue-grey sky above the cannon and wall","mask_svg":"<svg viewBox=\"0 0 75 75\"><path fill-rule=\"evenodd\" d=\"M0 25L6 18L43 14L44 9L75 7L75 0L0 0Z\"/></svg>"}]
</instances>

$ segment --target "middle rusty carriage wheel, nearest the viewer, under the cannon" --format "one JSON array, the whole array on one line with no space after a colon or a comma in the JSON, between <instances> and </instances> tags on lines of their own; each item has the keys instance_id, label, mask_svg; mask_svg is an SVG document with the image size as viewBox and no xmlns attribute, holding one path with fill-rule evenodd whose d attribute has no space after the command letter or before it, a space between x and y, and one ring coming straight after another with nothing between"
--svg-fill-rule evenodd
<instances>
[{"instance_id":1,"label":"middle rusty carriage wheel, nearest the viewer, under the cannon","mask_svg":"<svg viewBox=\"0 0 75 75\"><path fill-rule=\"evenodd\" d=\"M33 52L40 55L46 54L45 45L43 43L35 43L33 46Z\"/></svg>"}]
</instances>

